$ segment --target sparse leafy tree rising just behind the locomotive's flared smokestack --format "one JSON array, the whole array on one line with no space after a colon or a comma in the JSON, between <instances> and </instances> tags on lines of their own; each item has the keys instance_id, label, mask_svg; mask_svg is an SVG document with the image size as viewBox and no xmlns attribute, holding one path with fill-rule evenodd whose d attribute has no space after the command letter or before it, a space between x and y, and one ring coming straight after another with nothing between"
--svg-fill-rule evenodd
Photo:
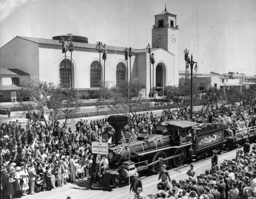
<instances>
[{"instance_id":1,"label":"sparse leafy tree rising just behind the locomotive's flared smokestack","mask_svg":"<svg viewBox=\"0 0 256 199\"><path fill-rule=\"evenodd\" d=\"M97 105L97 109L109 107L117 115L131 113L135 117L137 108L141 106L143 97L141 90L145 89L145 86L126 81L111 88L108 88L108 85L106 84L106 87L98 93L98 96L105 95L106 97L100 100L101 105Z\"/></svg>"}]
</instances>

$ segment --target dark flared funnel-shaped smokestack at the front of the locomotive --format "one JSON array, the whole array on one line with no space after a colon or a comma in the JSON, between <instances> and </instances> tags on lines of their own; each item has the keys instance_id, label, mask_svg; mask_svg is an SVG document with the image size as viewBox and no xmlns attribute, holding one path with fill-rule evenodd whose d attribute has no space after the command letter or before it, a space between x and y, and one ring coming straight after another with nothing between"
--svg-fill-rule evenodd
<instances>
[{"instance_id":1,"label":"dark flared funnel-shaped smokestack at the front of the locomotive","mask_svg":"<svg viewBox=\"0 0 256 199\"><path fill-rule=\"evenodd\" d=\"M108 117L108 123L115 129L115 144L119 144L121 139L121 129L129 122L127 116L110 116Z\"/></svg>"}]
</instances>

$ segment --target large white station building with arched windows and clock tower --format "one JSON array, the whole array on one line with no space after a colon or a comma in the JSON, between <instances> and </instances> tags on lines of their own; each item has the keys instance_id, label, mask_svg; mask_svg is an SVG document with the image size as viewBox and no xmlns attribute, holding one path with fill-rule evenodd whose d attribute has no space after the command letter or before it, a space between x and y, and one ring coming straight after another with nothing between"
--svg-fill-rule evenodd
<instances>
[{"instance_id":1,"label":"large white station building with arched windows and clock tower","mask_svg":"<svg viewBox=\"0 0 256 199\"><path fill-rule=\"evenodd\" d=\"M90 96L99 90L99 81L103 81L104 75L104 63L102 58L99 61L99 53L95 49L96 41L92 44L88 43L87 37L72 34L63 36L67 46L70 36L73 37L74 43L72 60L70 52L67 52L68 85L79 89L80 96ZM66 85L66 62L65 55L61 53L60 37L46 39L16 36L0 48L0 68L18 69L29 74L29 79L36 77L39 81ZM144 47L145 43L141 46ZM152 87L161 89L163 86L178 85L179 29L176 15L166 9L155 15L151 46L155 57L154 69L151 65ZM127 81L127 73L130 79L130 58L127 65L124 58L125 48L106 46L106 49L108 55L105 61L105 81L118 85L121 81ZM131 79L132 82L137 81L138 84L145 85L148 96L150 55L147 49L132 49ZM34 78L32 81L35 80Z\"/></svg>"}]
</instances>

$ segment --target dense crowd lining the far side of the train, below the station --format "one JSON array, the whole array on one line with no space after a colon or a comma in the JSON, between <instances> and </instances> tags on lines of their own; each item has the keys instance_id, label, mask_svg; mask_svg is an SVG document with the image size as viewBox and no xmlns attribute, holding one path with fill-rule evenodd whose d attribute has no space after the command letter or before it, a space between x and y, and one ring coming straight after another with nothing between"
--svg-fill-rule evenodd
<instances>
[{"instance_id":1,"label":"dense crowd lining the far side of the train, below the station","mask_svg":"<svg viewBox=\"0 0 256 199\"><path fill-rule=\"evenodd\" d=\"M255 112L255 104L217 107L215 110L204 107L194 112L193 120L208 122L211 115L214 118L212 123L224 124L226 129L238 129L255 126ZM154 131L153 123L189 120L189 115L189 110L179 112L176 109L171 112L166 110L161 116L152 112L137 114L133 118L130 116L129 124L122 129L123 141L128 137L130 141L136 140L140 128L146 128L151 134ZM91 121L80 119L73 131L59 124L55 121L45 127L31 121L26 128L22 128L18 120L2 123L2 198L21 197L90 178L93 159L91 143L104 141L103 133L113 132L114 129L106 118Z\"/></svg>"}]
</instances>

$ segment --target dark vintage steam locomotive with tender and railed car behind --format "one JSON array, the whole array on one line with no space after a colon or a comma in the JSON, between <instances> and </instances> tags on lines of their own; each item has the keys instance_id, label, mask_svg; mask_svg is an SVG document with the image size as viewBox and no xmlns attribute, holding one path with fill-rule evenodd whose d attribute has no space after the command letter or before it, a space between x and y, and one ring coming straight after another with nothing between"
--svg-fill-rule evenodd
<instances>
[{"instance_id":1,"label":"dark vintage steam locomotive with tender and railed car behind","mask_svg":"<svg viewBox=\"0 0 256 199\"><path fill-rule=\"evenodd\" d=\"M110 116L109 124L115 129L109 146L109 170L100 178L95 158L91 170L92 189L110 189L131 178L136 172L148 170L158 173L161 165L179 167L184 161L196 161L224 148L243 144L246 138L255 139L256 126L242 129L227 137L223 127L202 128L197 122L170 121L155 124L155 132L137 131L137 141L121 143L121 129L129 122L126 116ZM94 156L95 157L95 156Z\"/></svg>"}]
</instances>

